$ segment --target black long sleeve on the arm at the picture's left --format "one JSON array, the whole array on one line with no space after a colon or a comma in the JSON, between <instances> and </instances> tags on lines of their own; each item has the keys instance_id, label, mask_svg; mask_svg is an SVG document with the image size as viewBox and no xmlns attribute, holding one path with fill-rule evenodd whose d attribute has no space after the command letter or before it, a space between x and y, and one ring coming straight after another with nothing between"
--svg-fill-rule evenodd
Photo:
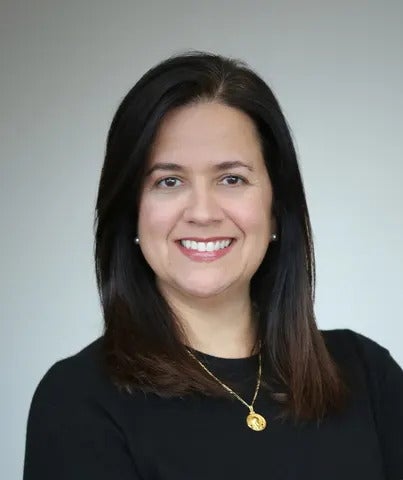
<instances>
[{"instance_id":1,"label":"black long sleeve on the arm at the picture's left","mask_svg":"<svg viewBox=\"0 0 403 480\"><path fill-rule=\"evenodd\" d=\"M119 426L85 385L55 364L33 396L24 480L136 480Z\"/></svg>"}]
</instances>

